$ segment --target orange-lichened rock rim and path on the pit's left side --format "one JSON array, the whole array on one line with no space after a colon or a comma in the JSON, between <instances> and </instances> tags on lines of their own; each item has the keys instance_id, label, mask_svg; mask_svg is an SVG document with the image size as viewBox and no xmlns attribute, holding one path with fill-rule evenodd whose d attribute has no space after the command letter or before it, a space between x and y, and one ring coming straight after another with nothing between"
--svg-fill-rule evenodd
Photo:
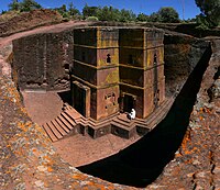
<instances>
[{"instance_id":1,"label":"orange-lichened rock rim and path on the pit's left side","mask_svg":"<svg viewBox=\"0 0 220 190\"><path fill-rule=\"evenodd\" d=\"M1 189L134 189L112 185L81 174L55 152L41 126L28 116L6 63L11 41L31 33L66 25L47 26L0 40L0 187ZM78 24L81 24L79 22Z\"/></svg>"}]
</instances>

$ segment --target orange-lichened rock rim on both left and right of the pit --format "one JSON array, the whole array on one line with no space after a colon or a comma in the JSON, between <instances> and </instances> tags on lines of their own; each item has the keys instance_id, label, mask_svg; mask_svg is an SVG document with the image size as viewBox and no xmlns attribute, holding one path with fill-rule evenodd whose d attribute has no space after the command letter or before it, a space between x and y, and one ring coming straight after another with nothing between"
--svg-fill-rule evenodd
<instances>
[{"instance_id":1,"label":"orange-lichened rock rim on both left and right of the pit","mask_svg":"<svg viewBox=\"0 0 220 190\"><path fill-rule=\"evenodd\" d=\"M3 59L6 45L19 36L0 40ZM213 54L182 146L160 178L146 189L220 189L220 103L219 98L209 102L207 93L220 66L219 44L213 40ZM42 127L26 115L3 59L0 63L1 189L134 189L87 176L63 161Z\"/></svg>"}]
</instances>

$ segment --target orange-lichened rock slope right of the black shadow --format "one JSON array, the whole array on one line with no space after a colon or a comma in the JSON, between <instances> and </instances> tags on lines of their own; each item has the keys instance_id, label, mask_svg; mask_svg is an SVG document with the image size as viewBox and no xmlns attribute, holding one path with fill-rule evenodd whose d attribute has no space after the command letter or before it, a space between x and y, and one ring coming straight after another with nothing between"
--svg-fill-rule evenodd
<instances>
[{"instance_id":1,"label":"orange-lichened rock slope right of the black shadow","mask_svg":"<svg viewBox=\"0 0 220 190\"><path fill-rule=\"evenodd\" d=\"M220 189L220 100L209 102L208 89L220 67L220 41L212 41L212 56L204 75L190 123L175 158L150 189Z\"/></svg>"}]
</instances>

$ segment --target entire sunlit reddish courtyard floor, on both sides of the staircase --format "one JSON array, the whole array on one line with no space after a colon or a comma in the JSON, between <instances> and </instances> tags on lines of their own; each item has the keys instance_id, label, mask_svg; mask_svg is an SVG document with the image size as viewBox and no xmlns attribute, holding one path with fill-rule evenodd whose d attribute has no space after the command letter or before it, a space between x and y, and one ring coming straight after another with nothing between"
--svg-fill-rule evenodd
<instances>
[{"instance_id":1,"label":"entire sunlit reddish courtyard floor, on both sides of the staircase","mask_svg":"<svg viewBox=\"0 0 220 190\"><path fill-rule=\"evenodd\" d=\"M23 91L23 101L31 120L40 125L56 118L62 112L63 101L56 92ZM112 134L97 139L89 135L76 134L53 143L61 157L74 167L87 165L117 154L140 139L133 136L124 139Z\"/></svg>"}]
</instances>

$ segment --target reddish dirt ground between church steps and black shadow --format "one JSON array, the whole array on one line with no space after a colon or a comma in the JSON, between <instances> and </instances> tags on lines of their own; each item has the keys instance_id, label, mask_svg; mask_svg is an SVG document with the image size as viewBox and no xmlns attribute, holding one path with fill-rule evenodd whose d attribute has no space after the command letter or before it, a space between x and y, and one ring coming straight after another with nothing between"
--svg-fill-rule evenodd
<instances>
[{"instance_id":1,"label":"reddish dirt ground between church steps and black shadow","mask_svg":"<svg viewBox=\"0 0 220 190\"><path fill-rule=\"evenodd\" d=\"M79 167L114 155L138 139L140 136L124 139L112 134L92 139L90 136L77 134L55 142L53 145L65 161Z\"/></svg>"}]
</instances>

